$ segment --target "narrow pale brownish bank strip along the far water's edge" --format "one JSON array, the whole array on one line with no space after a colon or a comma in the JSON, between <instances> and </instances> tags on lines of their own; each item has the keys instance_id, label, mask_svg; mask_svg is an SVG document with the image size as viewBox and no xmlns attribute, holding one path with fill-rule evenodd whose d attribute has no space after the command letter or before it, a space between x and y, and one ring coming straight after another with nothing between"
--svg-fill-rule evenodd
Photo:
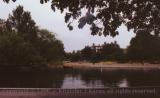
<instances>
[{"instance_id":1,"label":"narrow pale brownish bank strip along the far water's edge","mask_svg":"<svg viewBox=\"0 0 160 98\"><path fill-rule=\"evenodd\" d=\"M149 63L117 63L117 62L65 62L64 67L68 68L113 68L113 69L160 69L160 64Z\"/></svg>"}]
</instances>

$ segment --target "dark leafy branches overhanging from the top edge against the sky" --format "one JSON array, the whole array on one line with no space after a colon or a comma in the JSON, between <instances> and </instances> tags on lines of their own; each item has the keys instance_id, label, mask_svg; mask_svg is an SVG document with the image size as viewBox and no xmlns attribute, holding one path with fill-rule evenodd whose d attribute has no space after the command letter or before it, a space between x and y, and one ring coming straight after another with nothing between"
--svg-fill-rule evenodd
<instances>
[{"instance_id":1,"label":"dark leafy branches overhanging from the top edge against the sky","mask_svg":"<svg viewBox=\"0 0 160 98\"><path fill-rule=\"evenodd\" d=\"M3 0L9 2L9 0ZM16 0L12 0L16 1ZM160 34L159 0L40 0L40 3L51 1L51 8L64 12L65 22L70 30L72 21L79 19L79 28L91 25L92 35L116 36L117 28L125 24L128 28ZM81 16L86 9L86 15Z\"/></svg>"}]
</instances>

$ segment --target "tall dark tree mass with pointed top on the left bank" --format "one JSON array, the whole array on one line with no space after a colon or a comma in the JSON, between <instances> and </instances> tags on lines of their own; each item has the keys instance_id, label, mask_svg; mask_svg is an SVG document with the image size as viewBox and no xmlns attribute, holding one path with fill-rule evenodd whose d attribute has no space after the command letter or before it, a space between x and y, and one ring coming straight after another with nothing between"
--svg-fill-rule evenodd
<instances>
[{"instance_id":1,"label":"tall dark tree mass with pointed top on the left bank","mask_svg":"<svg viewBox=\"0 0 160 98\"><path fill-rule=\"evenodd\" d=\"M58 65L63 44L55 35L39 29L30 12L18 6L7 20L0 20L0 68L38 68Z\"/></svg>"}]
</instances>

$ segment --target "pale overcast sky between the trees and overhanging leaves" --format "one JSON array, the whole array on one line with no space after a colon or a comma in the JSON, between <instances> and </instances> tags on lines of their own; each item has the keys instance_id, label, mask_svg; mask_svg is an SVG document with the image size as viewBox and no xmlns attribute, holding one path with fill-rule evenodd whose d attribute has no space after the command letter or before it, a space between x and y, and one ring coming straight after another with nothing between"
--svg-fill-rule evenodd
<instances>
[{"instance_id":1,"label":"pale overcast sky between the trees and overhanging leaves","mask_svg":"<svg viewBox=\"0 0 160 98\"><path fill-rule=\"evenodd\" d=\"M117 41L121 48L126 48L135 34L127 31L125 26L118 28L119 36L115 38L92 36L90 34L89 26L83 29L78 29L77 24L74 25L74 30L69 31L67 24L64 22L64 14L59 11L53 12L50 3L40 4L40 0L17 0L16 3L6 4L0 0L0 18L7 19L9 13L18 5L22 5L26 11L30 11L32 18L35 20L40 28L48 29L56 33L56 37L60 39L65 47L65 51L71 52L73 50L80 50L86 45L103 44L104 42Z\"/></svg>"}]
</instances>

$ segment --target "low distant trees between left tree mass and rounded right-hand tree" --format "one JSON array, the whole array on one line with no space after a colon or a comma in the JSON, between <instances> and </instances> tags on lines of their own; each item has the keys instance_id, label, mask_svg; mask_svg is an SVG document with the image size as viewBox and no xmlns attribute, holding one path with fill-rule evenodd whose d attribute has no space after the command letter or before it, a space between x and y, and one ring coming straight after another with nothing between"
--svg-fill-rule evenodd
<instances>
[{"instance_id":1,"label":"low distant trees between left tree mass and rounded right-hand tree","mask_svg":"<svg viewBox=\"0 0 160 98\"><path fill-rule=\"evenodd\" d=\"M118 61L125 62L124 50L119 47L119 45L114 43L104 43L103 45L92 45L86 46L80 51L73 51L72 53L66 53L66 58L71 61L90 61L90 62L100 62L100 61Z\"/></svg>"}]
</instances>

